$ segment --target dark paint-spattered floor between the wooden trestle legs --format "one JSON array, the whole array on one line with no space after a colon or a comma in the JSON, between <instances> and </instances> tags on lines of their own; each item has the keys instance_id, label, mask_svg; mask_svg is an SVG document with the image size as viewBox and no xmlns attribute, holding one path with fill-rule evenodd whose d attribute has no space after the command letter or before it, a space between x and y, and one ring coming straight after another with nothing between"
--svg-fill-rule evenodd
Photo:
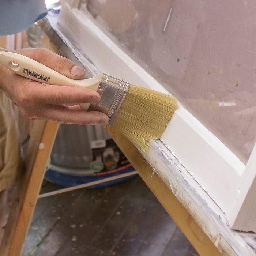
<instances>
[{"instance_id":1,"label":"dark paint-spattered floor between the wooden trestle legs","mask_svg":"<svg viewBox=\"0 0 256 256\"><path fill-rule=\"evenodd\" d=\"M41 193L59 189L44 181ZM38 200L22 256L197 256L138 176Z\"/></svg>"}]
</instances>

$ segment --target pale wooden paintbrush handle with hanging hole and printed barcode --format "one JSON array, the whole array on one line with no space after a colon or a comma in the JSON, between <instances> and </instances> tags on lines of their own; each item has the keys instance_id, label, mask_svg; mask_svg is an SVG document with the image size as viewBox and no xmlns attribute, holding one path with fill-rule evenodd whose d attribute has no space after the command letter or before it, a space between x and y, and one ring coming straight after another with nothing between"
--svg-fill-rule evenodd
<instances>
[{"instance_id":1,"label":"pale wooden paintbrush handle with hanging hole and printed barcode","mask_svg":"<svg viewBox=\"0 0 256 256\"><path fill-rule=\"evenodd\" d=\"M103 75L101 74L89 79L71 79L61 75L51 68L46 67L42 63L13 52L0 52L0 64L20 76L24 76L40 83L60 86L86 87L95 91L97 90ZM90 103L80 104L80 106L82 109L88 110Z\"/></svg>"}]
</instances>

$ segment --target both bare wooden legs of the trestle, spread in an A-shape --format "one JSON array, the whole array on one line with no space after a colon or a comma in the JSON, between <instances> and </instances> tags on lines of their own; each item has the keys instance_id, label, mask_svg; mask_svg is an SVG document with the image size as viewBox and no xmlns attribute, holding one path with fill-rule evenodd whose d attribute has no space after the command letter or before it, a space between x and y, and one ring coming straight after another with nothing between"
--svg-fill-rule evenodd
<instances>
[{"instance_id":1,"label":"both bare wooden legs of the trestle, spread in an A-shape","mask_svg":"<svg viewBox=\"0 0 256 256\"><path fill-rule=\"evenodd\" d=\"M26 173L16 189L0 248L1 256L19 256L22 252L58 127L59 124L53 121L35 121L27 150ZM221 255L158 174L152 176L152 167L135 146L113 128L106 129L197 252Z\"/></svg>"}]
</instances>

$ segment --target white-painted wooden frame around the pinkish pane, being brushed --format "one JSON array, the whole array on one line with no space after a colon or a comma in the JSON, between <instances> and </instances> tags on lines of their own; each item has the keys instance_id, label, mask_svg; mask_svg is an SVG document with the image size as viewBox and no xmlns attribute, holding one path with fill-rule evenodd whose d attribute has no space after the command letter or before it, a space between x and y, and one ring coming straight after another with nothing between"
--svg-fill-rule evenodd
<instances>
[{"instance_id":1,"label":"white-painted wooden frame around the pinkish pane, being brushed","mask_svg":"<svg viewBox=\"0 0 256 256\"><path fill-rule=\"evenodd\" d=\"M95 24L89 12L79 10L79 3L63 1L58 23L94 65L129 83L168 93ZM245 166L181 104L161 141L225 212L232 228L256 232L256 147Z\"/></svg>"}]
</instances>

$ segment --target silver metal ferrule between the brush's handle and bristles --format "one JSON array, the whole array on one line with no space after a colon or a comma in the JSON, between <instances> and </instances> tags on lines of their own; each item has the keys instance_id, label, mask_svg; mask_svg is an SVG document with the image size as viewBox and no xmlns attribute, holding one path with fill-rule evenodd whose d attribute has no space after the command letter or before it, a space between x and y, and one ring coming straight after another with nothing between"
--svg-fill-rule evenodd
<instances>
[{"instance_id":1,"label":"silver metal ferrule between the brush's handle and bristles","mask_svg":"<svg viewBox=\"0 0 256 256\"><path fill-rule=\"evenodd\" d=\"M103 74L101 83L98 86L97 92L101 95L101 99L94 106L93 110L98 110L105 113L109 117L107 125L111 125L121 104L128 93L130 84Z\"/></svg>"}]
</instances>

